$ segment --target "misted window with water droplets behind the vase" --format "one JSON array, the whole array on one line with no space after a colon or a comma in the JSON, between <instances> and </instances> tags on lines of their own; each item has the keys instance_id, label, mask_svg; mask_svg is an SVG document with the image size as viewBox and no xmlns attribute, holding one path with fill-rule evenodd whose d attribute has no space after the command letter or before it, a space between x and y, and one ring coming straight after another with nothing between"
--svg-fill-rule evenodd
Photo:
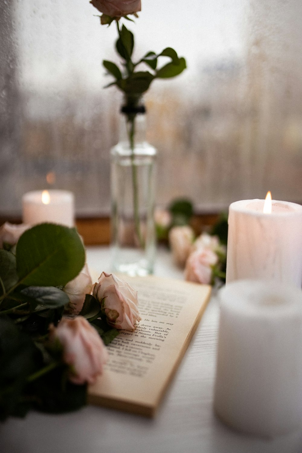
<instances>
[{"instance_id":1,"label":"misted window with water droplets behind the vase","mask_svg":"<svg viewBox=\"0 0 302 453\"><path fill-rule=\"evenodd\" d=\"M77 215L110 212L120 93L102 67L116 29L88 0L0 2L0 215L22 194L63 188ZM142 0L135 54L171 46L179 77L145 96L158 148L157 202L198 212L264 198L302 201L302 2Z\"/></svg>"}]
</instances>

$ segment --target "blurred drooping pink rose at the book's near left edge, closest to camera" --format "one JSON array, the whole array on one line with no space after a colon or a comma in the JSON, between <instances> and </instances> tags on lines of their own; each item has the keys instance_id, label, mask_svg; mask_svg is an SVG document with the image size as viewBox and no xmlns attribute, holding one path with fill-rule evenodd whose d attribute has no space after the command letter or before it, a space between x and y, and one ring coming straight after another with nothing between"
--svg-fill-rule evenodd
<instances>
[{"instance_id":1,"label":"blurred drooping pink rose at the book's near left edge, closest to camera","mask_svg":"<svg viewBox=\"0 0 302 453\"><path fill-rule=\"evenodd\" d=\"M108 358L107 349L96 329L82 316L62 319L58 327L49 327L50 341L58 338L63 347L63 361L70 365L73 384L93 384L102 373Z\"/></svg>"}]
</instances>

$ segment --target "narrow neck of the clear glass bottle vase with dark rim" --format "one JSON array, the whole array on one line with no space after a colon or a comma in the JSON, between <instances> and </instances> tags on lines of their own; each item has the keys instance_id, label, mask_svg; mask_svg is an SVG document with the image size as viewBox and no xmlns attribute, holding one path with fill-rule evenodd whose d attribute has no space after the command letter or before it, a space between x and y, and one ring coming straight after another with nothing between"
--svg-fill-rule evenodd
<instances>
[{"instance_id":1,"label":"narrow neck of the clear glass bottle vase with dark rim","mask_svg":"<svg viewBox=\"0 0 302 453\"><path fill-rule=\"evenodd\" d=\"M127 96L120 109L120 141L129 148L146 140L146 109L141 97Z\"/></svg>"}]
</instances>

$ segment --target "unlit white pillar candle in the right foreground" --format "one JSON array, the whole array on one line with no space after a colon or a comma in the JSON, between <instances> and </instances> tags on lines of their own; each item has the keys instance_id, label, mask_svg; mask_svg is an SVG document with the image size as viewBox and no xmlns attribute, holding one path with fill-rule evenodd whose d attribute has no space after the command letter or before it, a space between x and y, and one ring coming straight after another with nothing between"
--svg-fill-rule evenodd
<instances>
[{"instance_id":1,"label":"unlit white pillar candle in the right foreground","mask_svg":"<svg viewBox=\"0 0 302 453\"><path fill-rule=\"evenodd\" d=\"M214 409L228 425L274 437L302 425L302 291L240 280L220 292Z\"/></svg>"}]
</instances>

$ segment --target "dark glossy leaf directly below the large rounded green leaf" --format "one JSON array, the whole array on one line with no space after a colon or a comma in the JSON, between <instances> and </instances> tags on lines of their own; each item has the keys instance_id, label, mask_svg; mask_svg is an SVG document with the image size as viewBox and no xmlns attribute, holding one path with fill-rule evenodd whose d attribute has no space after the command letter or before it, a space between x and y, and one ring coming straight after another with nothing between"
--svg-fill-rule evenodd
<instances>
[{"instance_id":1,"label":"dark glossy leaf directly below the large rounded green leaf","mask_svg":"<svg viewBox=\"0 0 302 453\"><path fill-rule=\"evenodd\" d=\"M54 286L29 286L22 289L20 294L29 300L31 308L35 307L35 311L62 307L69 302L67 294ZM34 307L31 302L34 303Z\"/></svg>"}]
</instances>

